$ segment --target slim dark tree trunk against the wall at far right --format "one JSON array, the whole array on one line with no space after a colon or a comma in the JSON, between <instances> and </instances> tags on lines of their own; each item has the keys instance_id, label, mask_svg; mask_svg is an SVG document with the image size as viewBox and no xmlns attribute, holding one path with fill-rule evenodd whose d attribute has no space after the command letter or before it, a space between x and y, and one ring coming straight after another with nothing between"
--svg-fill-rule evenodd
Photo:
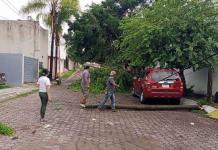
<instances>
[{"instance_id":1,"label":"slim dark tree trunk against the wall at far right","mask_svg":"<svg viewBox=\"0 0 218 150\"><path fill-rule=\"evenodd\" d=\"M210 66L208 68L208 76L207 76L207 100L212 101L212 86L213 86L213 69Z\"/></svg>"}]
</instances>

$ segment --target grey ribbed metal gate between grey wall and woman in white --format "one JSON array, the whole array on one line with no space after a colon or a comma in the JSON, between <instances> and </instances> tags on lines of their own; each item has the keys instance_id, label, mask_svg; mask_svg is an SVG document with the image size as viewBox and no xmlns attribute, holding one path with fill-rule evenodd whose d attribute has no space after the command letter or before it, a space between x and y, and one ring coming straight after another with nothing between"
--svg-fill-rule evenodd
<instances>
[{"instance_id":1,"label":"grey ribbed metal gate between grey wall and woman in white","mask_svg":"<svg viewBox=\"0 0 218 150\"><path fill-rule=\"evenodd\" d=\"M24 82L36 82L38 78L38 59L24 57Z\"/></svg>"}]
</instances>

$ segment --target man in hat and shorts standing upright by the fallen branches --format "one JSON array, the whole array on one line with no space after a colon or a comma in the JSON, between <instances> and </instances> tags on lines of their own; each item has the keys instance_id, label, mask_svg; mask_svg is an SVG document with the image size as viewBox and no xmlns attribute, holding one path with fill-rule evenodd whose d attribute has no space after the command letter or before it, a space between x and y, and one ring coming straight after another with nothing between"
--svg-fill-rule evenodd
<instances>
[{"instance_id":1,"label":"man in hat and shorts standing upright by the fallen branches","mask_svg":"<svg viewBox=\"0 0 218 150\"><path fill-rule=\"evenodd\" d=\"M80 100L80 106L85 108L86 102L89 96L89 86L90 86L90 73L89 73L89 65L84 65L84 71L82 73L81 80L81 89L82 89L82 98Z\"/></svg>"}]
</instances>

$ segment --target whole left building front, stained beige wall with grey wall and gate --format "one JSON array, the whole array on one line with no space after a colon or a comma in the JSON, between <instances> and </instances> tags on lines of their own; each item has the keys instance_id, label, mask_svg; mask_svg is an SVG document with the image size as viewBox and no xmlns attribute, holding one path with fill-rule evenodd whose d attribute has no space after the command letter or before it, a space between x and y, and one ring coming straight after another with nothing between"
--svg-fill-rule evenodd
<instances>
[{"instance_id":1,"label":"whole left building front, stained beige wall with grey wall and gate","mask_svg":"<svg viewBox=\"0 0 218 150\"><path fill-rule=\"evenodd\" d=\"M0 20L0 45L0 72L10 85L35 82L39 65L48 67L48 31L38 21Z\"/></svg>"}]
</instances>

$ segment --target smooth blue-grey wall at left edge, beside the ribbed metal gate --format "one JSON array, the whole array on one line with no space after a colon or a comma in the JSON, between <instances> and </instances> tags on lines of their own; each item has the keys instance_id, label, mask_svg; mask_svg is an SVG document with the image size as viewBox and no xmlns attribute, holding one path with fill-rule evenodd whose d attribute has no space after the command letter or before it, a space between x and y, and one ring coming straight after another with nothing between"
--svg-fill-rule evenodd
<instances>
[{"instance_id":1,"label":"smooth blue-grey wall at left edge, beside the ribbed metal gate","mask_svg":"<svg viewBox=\"0 0 218 150\"><path fill-rule=\"evenodd\" d=\"M7 84L23 84L23 58L22 54L0 54L0 72L6 74Z\"/></svg>"}]
</instances>

